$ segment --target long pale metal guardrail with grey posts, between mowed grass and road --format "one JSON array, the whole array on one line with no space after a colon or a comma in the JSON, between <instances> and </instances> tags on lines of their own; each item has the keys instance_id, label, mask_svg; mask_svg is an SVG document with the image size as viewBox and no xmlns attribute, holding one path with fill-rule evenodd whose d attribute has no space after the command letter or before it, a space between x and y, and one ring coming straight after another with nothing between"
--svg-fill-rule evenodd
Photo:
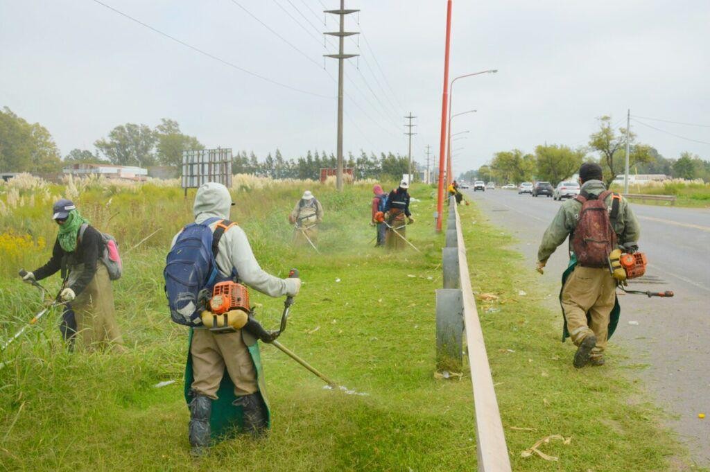
<instances>
[{"instance_id":1,"label":"long pale metal guardrail with grey posts, between mowed grass and road","mask_svg":"<svg viewBox=\"0 0 710 472\"><path fill-rule=\"evenodd\" d=\"M498 410L493 375L481 330L476 299L471 290L471 276L466 259L464 234L457 204L449 207L447 248L443 250L444 287L437 290L437 358L439 353L461 353L461 327L465 326L466 345L471 370L471 384L476 412L476 444L481 472L510 472L510 457ZM458 266L458 280L452 280L452 267ZM456 283L458 282L458 283ZM450 287L458 285L457 288ZM446 296L449 295L449 296ZM455 296L450 296L455 295ZM452 316L453 315L453 316ZM461 325L461 315L463 325ZM458 334L458 336L455 336ZM448 344L447 342L448 341ZM455 344L458 342L458 346ZM454 348L450 344L454 344Z\"/></svg>"}]
</instances>

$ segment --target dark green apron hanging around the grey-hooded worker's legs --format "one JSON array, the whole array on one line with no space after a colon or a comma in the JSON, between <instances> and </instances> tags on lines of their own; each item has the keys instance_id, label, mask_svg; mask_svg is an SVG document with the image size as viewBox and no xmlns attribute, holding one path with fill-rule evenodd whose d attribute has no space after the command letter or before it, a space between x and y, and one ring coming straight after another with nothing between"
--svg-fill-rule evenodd
<instances>
[{"instance_id":1,"label":"dark green apron hanging around the grey-hooded worker's legs","mask_svg":"<svg viewBox=\"0 0 710 472\"><path fill-rule=\"evenodd\" d=\"M264 382L263 368L261 367L261 355L259 353L259 345L253 336L242 333L242 338L249 348L251 361L254 363L256 370L256 382L261 393L261 399L266 405L266 427L271 427L271 409L266 398L266 385ZM187 363L185 364L185 402L190 404L192 397L190 396L190 387L192 385L192 356L190 356L190 347L192 346L192 328L190 328L190 336L187 340ZM241 406L233 405L236 400L234 395L234 383L229 378L229 373L224 368L222 374L222 382L219 383L217 390L217 400L212 401L212 416L209 417L209 426L213 441L222 441L236 437L237 434L244 432L244 412Z\"/></svg>"}]
</instances>

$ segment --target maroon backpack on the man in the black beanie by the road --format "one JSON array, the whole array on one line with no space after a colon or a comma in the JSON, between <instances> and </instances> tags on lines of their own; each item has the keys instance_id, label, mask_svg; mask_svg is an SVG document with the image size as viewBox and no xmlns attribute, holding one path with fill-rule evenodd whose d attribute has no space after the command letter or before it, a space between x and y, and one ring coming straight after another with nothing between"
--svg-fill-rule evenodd
<instances>
[{"instance_id":1,"label":"maroon backpack on the man in the black beanie by the road","mask_svg":"<svg viewBox=\"0 0 710 472\"><path fill-rule=\"evenodd\" d=\"M577 256L579 265L584 267L607 267L609 253L616 248L616 232L612 221L618 214L618 202L621 196L613 194L611 217L604 200L610 190L602 192L599 197L579 194L574 199L581 203L577 228L572 236L572 250Z\"/></svg>"}]
</instances>

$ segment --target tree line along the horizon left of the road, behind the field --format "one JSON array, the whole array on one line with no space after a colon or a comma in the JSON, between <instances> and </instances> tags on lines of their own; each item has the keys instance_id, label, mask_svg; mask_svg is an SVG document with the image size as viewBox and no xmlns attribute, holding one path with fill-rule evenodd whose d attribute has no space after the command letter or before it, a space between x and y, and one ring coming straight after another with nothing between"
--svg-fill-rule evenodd
<instances>
[{"instance_id":1,"label":"tree line along the horizon left of the road, behind the field","mask_svg":"<svg viewBox=\"0 0 710 472\"><path fill-rule=\"evenodd\" d=\"M180 131L173 119L161 119L151 128L146 124L126 123L109 131L94 142L94 150L72 149L60 155L50 132L42 125L30 124L9 108L0 110L0 171L60 172L71 163L110 163L148 168L165 165L181 170L182 151L204 149L194 136ZM232 172L269 176L276 179L320 178L321 168L334 168L337 159L331 153L317 150L306 155L285 158L278 148L265 158L246 150L237 151L232 158ZM391 178L398 180L408 171L408 158L394 153L348 153L344 166L354 168L356 178ZM416 166L416 163L415 163Z\"/></svg>"}]
</instances>

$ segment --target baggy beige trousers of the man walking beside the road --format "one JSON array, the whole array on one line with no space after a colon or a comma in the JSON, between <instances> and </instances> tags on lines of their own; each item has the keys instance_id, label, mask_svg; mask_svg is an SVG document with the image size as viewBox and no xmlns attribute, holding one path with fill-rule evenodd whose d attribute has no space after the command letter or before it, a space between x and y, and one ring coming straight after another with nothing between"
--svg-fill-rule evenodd
<instances>
[{"instance_id":1,"label":"baggy beige trousers of the man walking beside the road","mask_svg":"<svg viewBox=\"0 0 710 472\"><path fill-rule=\"evenodd\" d=\"M562 309L567 318L569 336L579 346L586 336L594 333L596 346L591 351L592 357L601 357L606 348L609 314L615 297L616 279L606 268L577 265L562 287ZM587 312L591 318L589 325Z\"/></svg>"}]
</instances>

